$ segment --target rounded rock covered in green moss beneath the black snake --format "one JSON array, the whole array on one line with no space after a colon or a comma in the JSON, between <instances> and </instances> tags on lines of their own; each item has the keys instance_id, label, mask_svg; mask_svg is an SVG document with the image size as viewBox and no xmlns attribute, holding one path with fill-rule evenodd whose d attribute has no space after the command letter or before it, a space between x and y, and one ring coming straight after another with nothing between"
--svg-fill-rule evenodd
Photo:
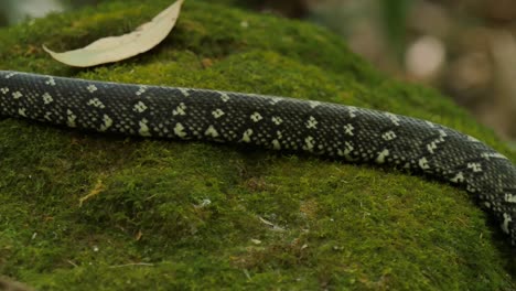
<instances>
[{"instance_id":1,"label":"rounded rock covered in green moss beneath the black snake","mask_svg":"<svg viewBox=\"0 0 516 291\"><path fill-rule=\"evenodd\" d=\"M0 30L0 69L318 99L456 128L322 28L189 0L149 53L90 69L41 48L121 34L170 4L109 1ZM461 190L390 168L0 121L0 273L45 290L513 290L507 241ZM88 197L79 205L82 197Z\"/></svg>"}]
</instances>

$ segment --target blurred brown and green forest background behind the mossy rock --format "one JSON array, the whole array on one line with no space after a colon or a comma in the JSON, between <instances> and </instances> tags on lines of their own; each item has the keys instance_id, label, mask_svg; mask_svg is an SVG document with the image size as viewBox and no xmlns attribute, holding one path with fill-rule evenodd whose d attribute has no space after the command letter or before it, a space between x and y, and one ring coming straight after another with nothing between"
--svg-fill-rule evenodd
<instances>
[{"instance_id":1,"label":"blurred brown and green forest background behind the mossy rock","mask_svg":"<svg viewBox=\"0 0 516 291\"><path fill-rule=\"evenodd\" d=\"M0 0L0 25L101 1ZM515 146L515 0L213 2L327 26L380 69L438 88Z\"/></svg>"}]
</instances>

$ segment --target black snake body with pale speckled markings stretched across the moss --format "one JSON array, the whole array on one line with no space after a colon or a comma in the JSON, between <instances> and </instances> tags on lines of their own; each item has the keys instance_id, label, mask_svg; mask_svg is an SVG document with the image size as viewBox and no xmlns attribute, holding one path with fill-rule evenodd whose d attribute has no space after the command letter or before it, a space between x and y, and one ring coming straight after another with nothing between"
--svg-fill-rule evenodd
<instances>
[{"instance_id":1,"label":"black snake body with pale speckled markings stretched across the moss","mask_svg":"<svg viewBox=\"0 0 516 291\"><path fill-rule=\"evenodd\" d=\"M516 168L479 140L430 121L283 97L6 71L0 71L0 115L398 165L465 187L516 246Z\"/></svg>"}]
</instances>

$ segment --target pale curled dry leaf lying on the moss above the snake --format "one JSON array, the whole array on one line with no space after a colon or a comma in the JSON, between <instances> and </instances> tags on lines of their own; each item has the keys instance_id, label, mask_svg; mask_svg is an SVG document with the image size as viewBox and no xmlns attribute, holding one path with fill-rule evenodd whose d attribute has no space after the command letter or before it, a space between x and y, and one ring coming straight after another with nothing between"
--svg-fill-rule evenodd
<instances>
[{"instance_id":1,"label":"pale curled dry leaf lying on the moss above the snake","mask_svg":"<svg viewBox=\"0 0 516 291\"><path fill-rule=\"evenodd\" d=\"M64 53L53 52L45 45L43 50L58 62L76 67L89 67L129 58L151 50L169 35L178 21L183 1L178 0L133 32L104 37L83 48Z\"/></svg>"}]
</instances>

